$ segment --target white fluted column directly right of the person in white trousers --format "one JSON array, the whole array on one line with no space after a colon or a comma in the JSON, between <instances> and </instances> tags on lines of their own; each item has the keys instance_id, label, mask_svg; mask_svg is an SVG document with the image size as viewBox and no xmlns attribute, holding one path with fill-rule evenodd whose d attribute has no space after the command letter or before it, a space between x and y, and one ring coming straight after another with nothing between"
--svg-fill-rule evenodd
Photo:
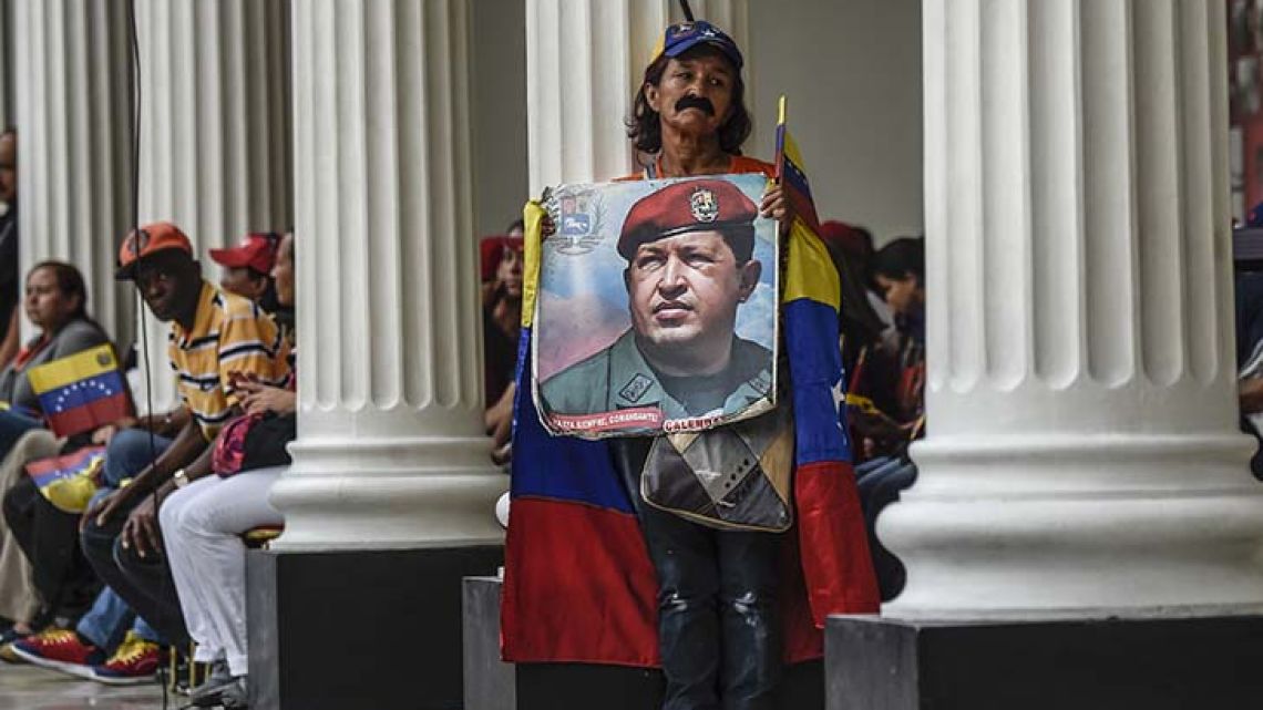
<instances>
[{"instance_id":1,"label":"white fluted column directly right of the person in white trousers","mask_svg":"<svg viewBox=\"0 0 1263 710\"><path fill-rule=\"evenodd\" d=\"M299 432L280 550L499 543L467 0L294 5Z\"/></svg>"}]
</instances>

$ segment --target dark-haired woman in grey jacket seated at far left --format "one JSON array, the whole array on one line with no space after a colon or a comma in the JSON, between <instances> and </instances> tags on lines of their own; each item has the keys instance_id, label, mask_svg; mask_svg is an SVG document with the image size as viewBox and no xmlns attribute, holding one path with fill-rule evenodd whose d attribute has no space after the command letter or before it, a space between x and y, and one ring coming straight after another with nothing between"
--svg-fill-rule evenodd
<instances>
[{"instance_id":1,"label":"dark-haired woman in grey jacket seated at far left","mask_svg":"<svg viewBox=\"0 0 1263 710\"><path fill-rule=\"evenodd\" d=\"M24 432L43 426L43 408L27 376L30 369L110 342L87 316L83 275L69 264L35 264L27 274L23 306L39 334L0 371L0 457Z\"/></svg>"}]
</instances>

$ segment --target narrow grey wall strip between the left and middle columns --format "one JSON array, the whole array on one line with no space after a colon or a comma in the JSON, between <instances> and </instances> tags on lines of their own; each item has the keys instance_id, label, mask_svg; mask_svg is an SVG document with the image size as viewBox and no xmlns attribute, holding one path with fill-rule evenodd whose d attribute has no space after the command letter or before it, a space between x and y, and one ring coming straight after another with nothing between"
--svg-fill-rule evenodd
<instances>
[{"instance_id":1,"label":"narrow grey wall strip between the left and middle columns","mask_svg":"<svg viewBox=\"0 0 1263 710\"><path fill-rule=\"evenodd\" d=\"M474 226L501 234L527 201L527 13L524 0L476 0L470 48Z\"/></svg>"}]
</instances>

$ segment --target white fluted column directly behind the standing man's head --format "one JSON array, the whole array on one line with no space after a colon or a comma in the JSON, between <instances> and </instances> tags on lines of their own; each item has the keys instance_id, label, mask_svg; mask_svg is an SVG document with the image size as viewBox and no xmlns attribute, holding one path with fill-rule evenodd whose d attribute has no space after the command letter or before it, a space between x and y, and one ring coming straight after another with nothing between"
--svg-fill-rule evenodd
<instances>
[{"instance_id":1,"label":"white fluted column directly behind the standing man's head","mask_svg":"<svg viewBox=\"0 0 1263 710\"><path fill-rule=\"evenodd\" d=\"M697 19L719 25L750 61L749 0L702 0ZM594 182L634 167L625 120L674 0L527 0L527 152L530 193ZM746 106L754 105L746 76Z\"/></svg>"}]
</instances>

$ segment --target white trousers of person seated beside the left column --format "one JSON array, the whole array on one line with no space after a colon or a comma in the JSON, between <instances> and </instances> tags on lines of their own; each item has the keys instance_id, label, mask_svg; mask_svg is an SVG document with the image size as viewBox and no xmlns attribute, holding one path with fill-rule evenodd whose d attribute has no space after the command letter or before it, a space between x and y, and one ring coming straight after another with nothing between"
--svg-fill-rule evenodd
<instances>
[{"instance_id":1,"label":"white trousers of person seated beside the left column","mask_svg":"<svg viewBox=\"0 0 1263 710\"><path fill-rule=\"evenodd\" d=\"M171 574L196 661L226 659L234 676L249 670L245 625L245 543L241 533L279 526L268 491L285 466L221 479L202 476L158 510Z\"/></svg>"}]
</instances>

